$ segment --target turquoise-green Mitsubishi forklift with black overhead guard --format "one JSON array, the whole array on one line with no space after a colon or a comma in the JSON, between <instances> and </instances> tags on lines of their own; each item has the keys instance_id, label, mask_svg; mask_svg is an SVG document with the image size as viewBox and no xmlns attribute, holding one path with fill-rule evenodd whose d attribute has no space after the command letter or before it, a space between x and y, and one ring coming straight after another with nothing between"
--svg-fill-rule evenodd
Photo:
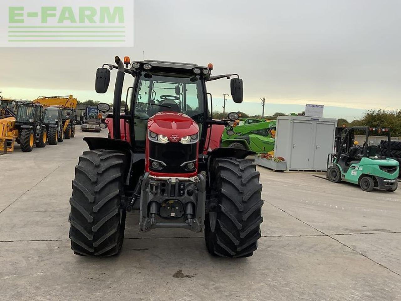
<instances>
[{"instance_id":1,"label":"turquoise-green Mitsubishi forklift with black overhead guard","mask_svg":"<svg viewBox=\"0 0 401 301\"><path fill-rule=\"evenodd\" d=\"M372 131L385 132L389 145L391 134L389 128L369 128L353 126L338 128L335 139L335 152L328 155L326 177L334 182L341 181L358 184L363 191L372 191L375 187L394 192L397 190L399 163L388 155L378 155L378 146L369 145ZM356 144L355 132L364 134L363 146ZM383 154L383 152L382 152Z\"/></svg>"}]
</instances>

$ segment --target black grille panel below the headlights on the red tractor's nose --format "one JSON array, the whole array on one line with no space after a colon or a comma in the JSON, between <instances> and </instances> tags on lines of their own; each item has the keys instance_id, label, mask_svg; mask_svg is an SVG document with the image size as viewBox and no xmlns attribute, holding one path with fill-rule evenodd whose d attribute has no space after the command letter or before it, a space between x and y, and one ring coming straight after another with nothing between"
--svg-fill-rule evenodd
<instances>
[{"instance_id":1,"label":"black grille panel below the headlights on the red tractor's nose","mask_svg":"<svg viewBox=\"0 0 401 301\"><path fill-rule=\"evenodd\" d=\"M158 173L192 173L182 167L182 163L194 161L198 156L196 151L197 143L182 144L180 142L158 143L149 141L149 157L157 161L162 161L166 166L161 169L152 169Z\"/></svg>"}]
</instances>

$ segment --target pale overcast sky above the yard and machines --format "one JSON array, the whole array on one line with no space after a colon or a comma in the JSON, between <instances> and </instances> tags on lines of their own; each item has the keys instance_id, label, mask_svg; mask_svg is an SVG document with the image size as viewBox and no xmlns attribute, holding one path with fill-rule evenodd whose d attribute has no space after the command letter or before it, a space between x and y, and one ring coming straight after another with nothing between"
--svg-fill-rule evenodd
<instances>
[{"instance_id":1,"label":"pale overcast sky above the yard and machines","mask_svg":"<svg viewBox=\"0 0 401 301\"><path fill-rule=\"evenodd\" d=\"M96 68L145 51L147 59L212 62L215 75L239 73L244 102L254 104L230 100L231 110L260 114L265 97L268 114L314 103L330 107L326 117L353 119L401 108L400 11L398 0L135 0L133 48L0 47L0 91L112 102L112 88L94 91ZM221 110L229 81L208 89Z\"/></svg>"}]
</instances>

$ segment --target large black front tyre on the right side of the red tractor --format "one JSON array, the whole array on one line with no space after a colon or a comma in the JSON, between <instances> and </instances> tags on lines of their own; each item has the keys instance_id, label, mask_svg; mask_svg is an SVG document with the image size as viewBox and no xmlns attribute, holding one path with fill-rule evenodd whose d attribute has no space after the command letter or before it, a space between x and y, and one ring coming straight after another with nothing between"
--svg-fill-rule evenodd
<instances>
[{"instance_id":1,"label":"large black front tyre on the right side of the red tractor","mask_svg":"<svg viewBox=\"0 0 401 301\"><path fill-rule=\"evenodd\" d=\"M248 257L257 249L263 221L262 185L256 165L245 159L215 159L212 164L212 195L216 212L205 219L205 241L210 254Z\"/></svg>"}]
</instances>

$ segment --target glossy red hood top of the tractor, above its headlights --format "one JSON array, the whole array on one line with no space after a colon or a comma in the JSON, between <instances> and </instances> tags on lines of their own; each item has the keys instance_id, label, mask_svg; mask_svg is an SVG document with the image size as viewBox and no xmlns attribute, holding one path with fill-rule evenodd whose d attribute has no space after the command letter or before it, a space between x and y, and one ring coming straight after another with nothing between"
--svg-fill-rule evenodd
<instances>
[{"instance_id":1,"label":"glossy red hood top of the tractor, above its headlights","mask_svg":"<svg viewBox=\"0 0 401 301\"><path fill-rule=\"evenodd\" d=\"M194 135L199 127L192 118L177 112L159 112L148 120L148 129L156 134L167 136L171 142L182 137Z\"/></svg>"}]
</instances>

